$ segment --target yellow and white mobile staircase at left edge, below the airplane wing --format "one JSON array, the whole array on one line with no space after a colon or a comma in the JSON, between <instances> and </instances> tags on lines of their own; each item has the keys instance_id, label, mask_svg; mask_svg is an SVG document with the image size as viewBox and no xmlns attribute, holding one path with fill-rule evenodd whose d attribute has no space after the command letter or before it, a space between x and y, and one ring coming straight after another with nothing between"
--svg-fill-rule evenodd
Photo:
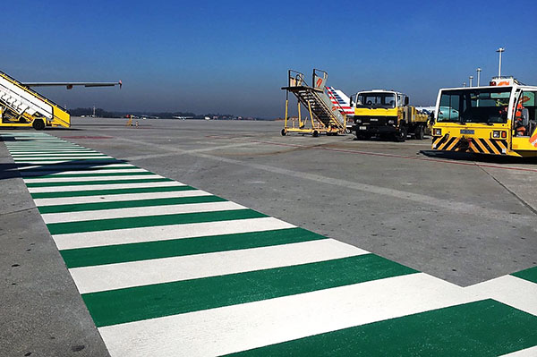
<instances>
[{"instance_id":1,"label":"yellow and white mobile staircase at left edge, below the airplane wing","mask_svg":"<svg viewBox=\"0 0 537 357\"><path fill-rule=\"evenodd\" d=\"M0 126L71 126L71 115L52 100L0 72Z\"/></svg>"}]
</instances>

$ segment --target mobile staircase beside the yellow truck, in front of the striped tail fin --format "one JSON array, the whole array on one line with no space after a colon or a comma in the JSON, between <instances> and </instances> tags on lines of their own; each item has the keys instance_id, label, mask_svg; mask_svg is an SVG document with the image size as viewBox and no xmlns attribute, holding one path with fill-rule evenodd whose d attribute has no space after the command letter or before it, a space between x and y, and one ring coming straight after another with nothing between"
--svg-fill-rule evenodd
<instances>
[{"instance_id":1,"label":"mobile staircase beside the yellow truck, in front of the striped tail fin","mask_svg":"<svg viewBox=\"0 0 537 357\"><path fill-rule=\"evenodd\" d=\"M317 137L321 132L327 135L337 135L346 130L346 115L341 113L338 105L334 105L327 94L326 82L328 73L313 69L312 83L309 86L304 81L304 75L294 70L288 71L286 90L286 118L282 135L287 132L310 133ZM297 99L298 117L289 117L289 93L293 93ZM310 114L310 120L301 117L301 106L304 106Z\"/></svg>"}]
</instances>

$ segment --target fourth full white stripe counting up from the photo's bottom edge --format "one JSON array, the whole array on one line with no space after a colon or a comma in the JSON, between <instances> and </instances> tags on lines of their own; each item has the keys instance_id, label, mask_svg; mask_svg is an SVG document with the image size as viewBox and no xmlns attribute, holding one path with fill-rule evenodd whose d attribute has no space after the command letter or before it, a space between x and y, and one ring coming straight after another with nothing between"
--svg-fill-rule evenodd
<instances>
[{"instance_id":1,"label":"fourth full white stripe counting up from the photo's bottom edge","mask_svg":"<svg viewBox=\"0 0 537 357\"><path fill-rule=\"evenodd\" d=\"M157 205L149 207L99 209L80 212L47 213L41 215L46 224L78 221L93 221L98 219L113 219L125 217L149 217L160 215L178 215L183 213L218 212L225 210L245 209L230 201L202 202L179 205Z\"/></svg>"}]
</instances>

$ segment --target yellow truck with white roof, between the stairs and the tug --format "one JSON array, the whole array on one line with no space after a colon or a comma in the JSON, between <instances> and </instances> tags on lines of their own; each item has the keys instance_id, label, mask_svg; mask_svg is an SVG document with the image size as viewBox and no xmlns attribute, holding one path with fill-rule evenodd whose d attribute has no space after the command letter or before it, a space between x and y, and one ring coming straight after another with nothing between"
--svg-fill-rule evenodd
<instances>
[{"instance_id":1,"label":"yellow truck with white roof, between the stairs and the tug","mask_svg":"<svg viewBox=\"0 0 537 357\"><path fill-rule=\"evenodd\" d=\"M408 96L394 90L374 89L356 93L351 99L352 130L360 140L373 135L405 141L408 134L422 140L428 132L429 115L408 105Z\"/></svg>"}]
</instances>

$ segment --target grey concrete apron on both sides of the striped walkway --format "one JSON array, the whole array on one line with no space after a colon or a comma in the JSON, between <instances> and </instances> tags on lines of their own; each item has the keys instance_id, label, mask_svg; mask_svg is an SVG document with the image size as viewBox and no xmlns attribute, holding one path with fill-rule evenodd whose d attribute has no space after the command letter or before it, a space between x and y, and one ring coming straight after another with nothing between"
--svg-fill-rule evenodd
<instances>
[{"instance_id":1,"label":"grey concrete apron on both sides of the striped walkway","mask_svg":"<svg viewBox=\"0 0 537 357\"><path fill-rule=\"evenodd\" d=\"M282 137L282 122L125 122L73 118L47 133L455 285L537 266L535 160ZM106 355L4 145L0 157L0 355Z\"/></svg>"}]
</instances>

